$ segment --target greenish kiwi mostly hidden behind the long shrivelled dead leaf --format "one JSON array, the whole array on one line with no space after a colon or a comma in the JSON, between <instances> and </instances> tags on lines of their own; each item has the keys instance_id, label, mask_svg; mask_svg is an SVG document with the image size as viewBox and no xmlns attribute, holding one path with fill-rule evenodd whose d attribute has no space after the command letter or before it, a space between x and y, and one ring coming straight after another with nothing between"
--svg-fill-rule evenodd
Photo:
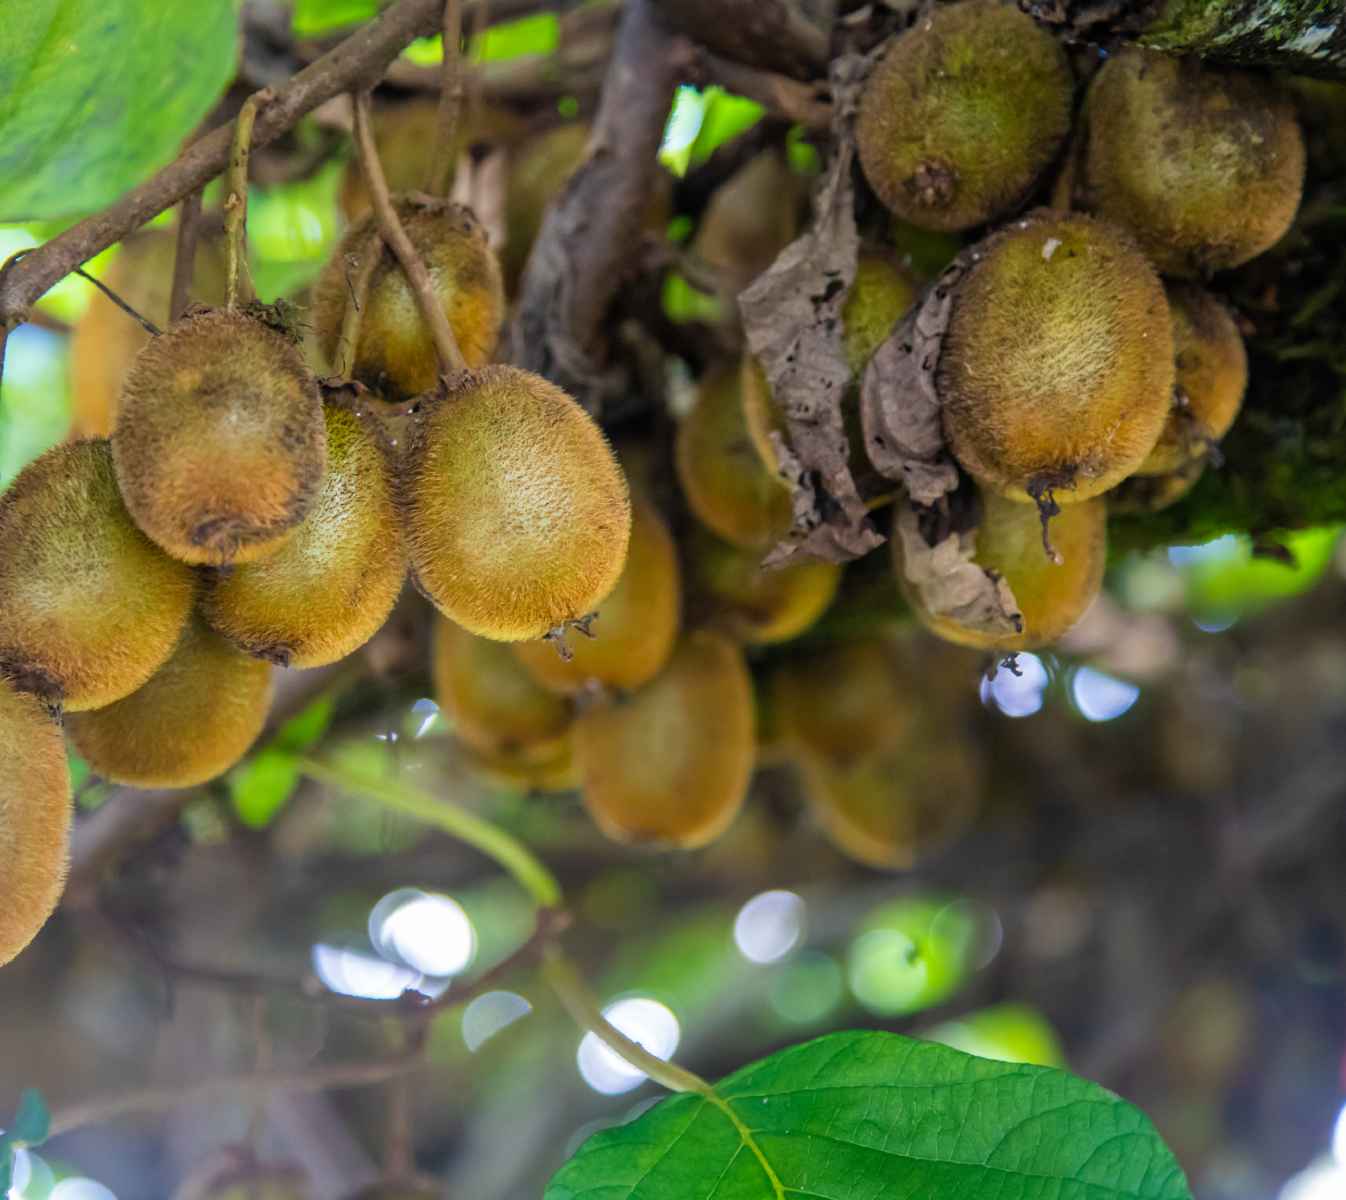
<instances>
[{"instance_id":1,"label":"greenish kiwi mostly hidden behind the long shrivelled dead leaf","mask_svg":"<svg viewBox=\"0 0 1346 1200\"><path fill-rule=\"evenodd\" d=\"M892 332L892 327L911 308L917 288L892 254L864 249L856 260L855 281L841 308L841 351L851 370L851 385L841 401L841 416L852 447L852 475L864 468L864 430L860 426L860 385L864 369ZM743 359L743 417L752 447L763 465L778 470L771 435L787 437L785 413L775 402L766 374L751 355Z\"/></svg>"}]
</instances>

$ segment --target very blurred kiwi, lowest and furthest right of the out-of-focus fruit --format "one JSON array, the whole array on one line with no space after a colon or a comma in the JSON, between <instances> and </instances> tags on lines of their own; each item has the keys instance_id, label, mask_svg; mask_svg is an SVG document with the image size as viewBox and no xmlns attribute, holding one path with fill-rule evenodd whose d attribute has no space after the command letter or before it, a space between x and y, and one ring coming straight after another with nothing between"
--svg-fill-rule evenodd
<instances>
[{"instance_id":1,"label":"very blurred kiwi, lowest and furthest right of the out-of-focus fruit","mask_svg":"<svg viewBox=\"0 0 1346 1200\"><path fill-rule=\"evenodd\" d=\"M802 763L804 795L828 841L879 870L906 869L961 834L980 804L973 748L930 725L872 753Z\"/></svg>"}]
</instances>

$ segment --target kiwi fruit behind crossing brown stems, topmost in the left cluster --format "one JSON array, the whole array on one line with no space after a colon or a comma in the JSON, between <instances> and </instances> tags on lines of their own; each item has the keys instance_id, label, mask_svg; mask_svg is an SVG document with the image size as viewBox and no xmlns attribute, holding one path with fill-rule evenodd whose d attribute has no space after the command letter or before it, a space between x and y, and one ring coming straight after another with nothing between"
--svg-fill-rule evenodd
<instances>
[{"instance_id":1,"label":"kiwi fruit behind crossing brown stems, topmost in the left cluster","mask_svg":"<svg viewBox=\"0 0 1346 1200\"><path fill-rule=\"evenodd\" d=\"M464 362L483 366L495 352L505 320L499 264L486 231L467 209L423 192L394 196L393 207L429 272ZM401 266L378 237L373 214L350 226L314 284L318 344L330 362L339 361L351 280L361 274L367 254L381 257L369 281L353 377L393 400L431 391L440 373L435 342Z\"/></svg>"}]
</instances>

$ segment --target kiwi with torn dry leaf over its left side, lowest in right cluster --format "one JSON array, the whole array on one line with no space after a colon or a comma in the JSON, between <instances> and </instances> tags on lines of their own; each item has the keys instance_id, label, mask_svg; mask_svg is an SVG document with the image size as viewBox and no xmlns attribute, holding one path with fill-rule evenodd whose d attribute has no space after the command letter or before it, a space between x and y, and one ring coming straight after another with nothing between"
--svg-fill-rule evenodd
<instances>
[{"instance_id":1,"label":"kiwi with torn dry leaf over its left side, lowest in right cluster","mask_svg":"<svg viewBox=\"0 0 1346 1200\"><path fill-rule=\"evenodd\" d=\"M907 581L902 538L894 533L894 572L921 622L946 642L979 650L1014 652L1049 646L1065 634L1102 588L1108 565L1108 509L1100 499L1067 504L1051 525L1059 565L1043 552L1038 514L995 492L981 492L981 521L973 562L1001 576L1023 617L1018 634L997 636L930 612Z\"/></svg>"}]
</instances>

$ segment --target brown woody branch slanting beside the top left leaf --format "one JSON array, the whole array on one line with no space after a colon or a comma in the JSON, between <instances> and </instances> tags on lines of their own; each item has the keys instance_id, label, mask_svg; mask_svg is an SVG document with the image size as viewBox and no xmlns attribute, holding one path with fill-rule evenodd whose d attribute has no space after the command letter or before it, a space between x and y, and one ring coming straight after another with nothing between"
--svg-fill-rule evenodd
<instances>
[{"instance_id":1,"label":"brown woody branch slanting beside the top left leaf","mask_svg":"<svg viewBox=\"0 0 1346 1200\"><path fill-rule=\"evenodd\" d=\"M490 3L491 16L498 20L537 8L537 0L464 0L464 12L472 13L483 3ZM276 98L257 117L253 147L271 144L335 96L373 87L406 46L439 30L441 13L441 0L398 0L276 89ZM0 278L0 328L26 320L38 297L74 268L205 187L227 165L232 141L233 129L227 126L207 133L114 204L73 225L12 264Z\"/></svg>"}]
</instances>

